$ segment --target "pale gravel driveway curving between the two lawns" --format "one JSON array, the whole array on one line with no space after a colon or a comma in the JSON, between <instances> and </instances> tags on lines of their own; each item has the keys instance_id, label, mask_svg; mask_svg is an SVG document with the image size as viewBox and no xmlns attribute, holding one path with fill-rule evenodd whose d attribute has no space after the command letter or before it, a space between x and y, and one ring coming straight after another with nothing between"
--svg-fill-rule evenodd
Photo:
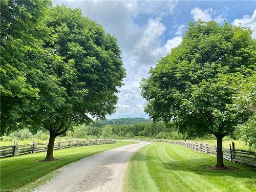
<instances>
[{"instance_id":1,"label":"pale gravel driveway curving between the two lawns","mask_svg":"<svg viewBox=\"0 0 256 192\"><path fill-rule=\"evenodd\" d=\"M113 148L62 167L56 178L35 191L121 191L130 157L140 147L150 143L138 142Z\"/></svg>"}]
</instances>

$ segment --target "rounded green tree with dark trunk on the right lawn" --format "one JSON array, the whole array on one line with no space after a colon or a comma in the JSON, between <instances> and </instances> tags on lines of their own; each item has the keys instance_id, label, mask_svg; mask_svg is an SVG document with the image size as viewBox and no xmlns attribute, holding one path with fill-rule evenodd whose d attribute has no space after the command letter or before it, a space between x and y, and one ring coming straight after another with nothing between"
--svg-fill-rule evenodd
<instances>
[{"instance_id":1,"label":"rounded green tree with dark trunk on the right lawn","mask_svg":"<svg viewBox=\"0 0 256 192\"><path fill-rule=\"evenodd\" d=\"M141 83L148 101L145 111L154 120L177 122L190 137L217 138L217 164L223 167L222 138L242 121L234 112L233 86L248 76L256 61L255 39L247 28L216 22L189 23L181 44L160 59Z\"/></svg>"}]
</instances>

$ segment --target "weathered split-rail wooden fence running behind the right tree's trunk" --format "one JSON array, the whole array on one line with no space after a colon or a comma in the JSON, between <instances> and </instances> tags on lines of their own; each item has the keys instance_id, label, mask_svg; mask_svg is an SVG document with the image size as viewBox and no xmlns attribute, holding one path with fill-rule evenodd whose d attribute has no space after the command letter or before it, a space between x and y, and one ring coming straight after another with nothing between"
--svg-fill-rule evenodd
<instances>
[{"instance_id":1,"label":"weathered split-rail wooden fence running behind the right tree's trunk","mask_svg":"<svg viewBox=\"0 0 256 192\"><path fill-rule=\"evenodd\" d=\"M171 140L165 140L165 139L150 139L146 141L180 144L190 148L191 150L217 156L217 146L211 146L204 143L171 141ZM239 163L243 163L251 166L256 166L256 153L251 151L245 151L245 150L237 150L234 147L234 142L232 142L232 147L231 147L231 144L229 144L229 149L222 148L222 151L223 151L223 158L228 161L231 161L233 163L239 162Z\"/></svg>"}]
</instances>

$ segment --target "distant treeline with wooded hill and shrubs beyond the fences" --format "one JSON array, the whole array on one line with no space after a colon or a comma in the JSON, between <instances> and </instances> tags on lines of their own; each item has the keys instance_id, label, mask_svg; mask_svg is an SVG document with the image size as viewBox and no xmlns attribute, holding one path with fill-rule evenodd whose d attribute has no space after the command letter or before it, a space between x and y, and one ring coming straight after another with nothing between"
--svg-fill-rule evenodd
<instances>
[{"instance_id":1,"label":"distant treeline with wooded hill and shrubs beyond the fences","mask_svg":"<svg viewBox=\"0 0 256 192\"><path fill-rule=\"evenodd\" d=\"M153 122L144 118L122 118L112 120L94 121L89 125L81 124L71 126L61 136L67 138L151 138L151 139L186 139L186 135L179 133L175 124L164 124L162 121ZM1 141L14 141L24 139L49 139L49 132L40 130L30 132L29 129L22 129L2 136Z\"/></svg>"}]
</instances>

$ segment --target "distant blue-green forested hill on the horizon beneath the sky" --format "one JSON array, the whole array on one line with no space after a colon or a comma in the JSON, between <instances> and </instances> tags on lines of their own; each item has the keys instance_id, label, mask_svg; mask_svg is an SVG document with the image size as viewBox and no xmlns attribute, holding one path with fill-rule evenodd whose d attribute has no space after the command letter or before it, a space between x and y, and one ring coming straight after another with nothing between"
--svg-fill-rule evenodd
<instances>
[{"instance_id":1,"label":"distant blue-green forested hill on the horizon beneath the sky","mask_svg":"<svg viewBox=\"0 0 256 192\"><path fill-rule=\"evenodd\" d=\"M120 119L105 119L105 120L99 120L98 123L104 125L104 124L131 124L131 123L150 123L153 122L152 119L144 119L140 117L136 118L120 118Z\"/></svg>"}]
</instances>

